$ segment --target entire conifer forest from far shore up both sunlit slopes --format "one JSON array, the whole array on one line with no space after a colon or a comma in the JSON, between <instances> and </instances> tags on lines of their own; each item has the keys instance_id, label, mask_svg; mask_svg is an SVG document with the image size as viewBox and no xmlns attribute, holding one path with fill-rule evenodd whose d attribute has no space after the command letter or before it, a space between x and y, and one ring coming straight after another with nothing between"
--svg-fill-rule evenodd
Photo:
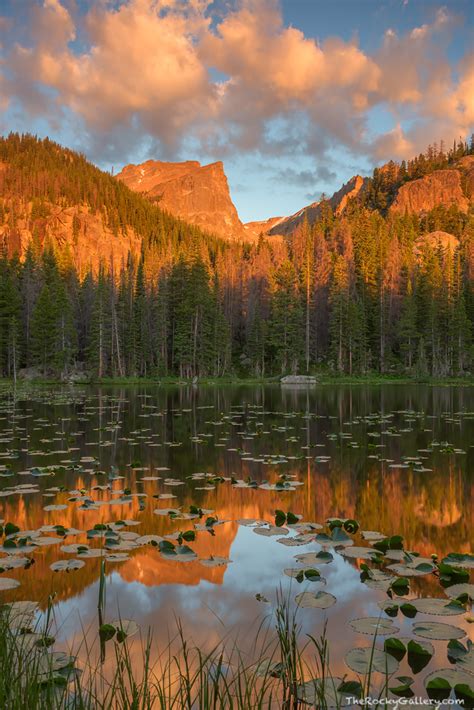
<instances>
[{"instance_id":1,"label":"entire conifer forest from far shore up both sunlit slopes","mask_svg":"<svg viewBox=\"0 0 474 710\"><path fill-rule=\"evenodd\" d=\"M456 160L471 153L456 150ZM390 211L400 171L383 173L395 182L375 173L338 216L323 203L311 227L245 244L172 218L51 141L3 139L1 373L78 363L99 377L472 372L472 207ZM46 229L58 208L72 210L66 242ZM109 241L133 232L139 247L120 262L99 247L79 268L85 213L100 215Z\"/></svg>"}]
</instances>

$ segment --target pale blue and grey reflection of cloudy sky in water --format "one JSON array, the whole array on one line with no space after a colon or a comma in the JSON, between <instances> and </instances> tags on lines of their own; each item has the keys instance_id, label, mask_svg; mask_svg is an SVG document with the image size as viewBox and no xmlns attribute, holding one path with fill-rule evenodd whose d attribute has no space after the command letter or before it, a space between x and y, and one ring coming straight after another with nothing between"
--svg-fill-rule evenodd
<instances>
[{"instance_id":1,"label":"pale blue and grey reflection of cloudy sky in water","mask_svg":"<svg viewBox=\"0 0 474 710\"><path fill-rule=\"evenodd\" d=\"M292 531L289 536L294 535ZM245 635L245 630L248 632L256 619L260 621L271 614L280 588L283 596L290 599L300 591L321 588L318 583L299 585L283 575L286 567L304 569L304 565L294 559L295 555L319 549L314 543L285 547L277 543L276 538L261 537L251 528L239 526L230 550L233 562L225 571L223 584L201 580L192 588L168 584L145 586L140 582L125 582L116 571L107 577L106 617L121 614L135 618L143 630L150 626L158 635L173 630L175 620L179 618L185 627L191 628L195 640L210 629L229 631L235 627L236 631L244 629ZM337 606L327 612L300 609L298 620L304 633L314 634L322 631L322 624L328 618L331 620L331 637L337 639L347 635L344 630L347 630L346 619L356 615L378 615L379 609L377 594L361 585L358 570L337 553L333 554L333 562L320 565L319 569L327 580L324 589L337 597ZM270 604L257 602L256 593L266 596ZM62 640L80 632L81 620L86 628L95 623L97 598L98 584L93 584L83 594L57 605Z\"/></svg>"}]
</instances>

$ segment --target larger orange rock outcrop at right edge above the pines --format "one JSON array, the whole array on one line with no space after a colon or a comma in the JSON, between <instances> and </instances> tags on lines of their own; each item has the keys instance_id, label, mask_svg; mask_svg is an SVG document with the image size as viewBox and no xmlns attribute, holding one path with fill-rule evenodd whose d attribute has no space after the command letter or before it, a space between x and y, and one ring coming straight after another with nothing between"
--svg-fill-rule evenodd
<instances>
[{"instance_id":1,"label":"larger orange rock outcrop at right edge above the pines","mask_svg":"<svg viewBox=\"0 0 474 710\"><path fill-rule=\"evenodd\" d=\"M421 214L438 205L456 205L462 212L467 212L469 200L463 192L459 170L435 170L418 180L406 182L398 190L390 212Z\"/></svg>"}]
</instances>

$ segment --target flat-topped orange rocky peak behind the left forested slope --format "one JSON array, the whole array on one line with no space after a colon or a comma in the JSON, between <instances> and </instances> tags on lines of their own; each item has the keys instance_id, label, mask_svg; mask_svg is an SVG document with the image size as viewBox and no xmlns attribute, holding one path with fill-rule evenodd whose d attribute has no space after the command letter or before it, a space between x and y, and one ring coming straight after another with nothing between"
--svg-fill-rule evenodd
<instances>
[{"instance_id":1,"label":"flat-topped orange rocky peak behind the left forested slope","mask_svg":"<svg viewBox=\"0 0 474 710\"><path fill-rule=\"evenodd\" d=\"M148 160L127 165L117 179L131 190L156 198L160 207L207 232L226 239L248 237L230 197L221 162L201 165L195 160Z\"/></svg>"}]
</instances>

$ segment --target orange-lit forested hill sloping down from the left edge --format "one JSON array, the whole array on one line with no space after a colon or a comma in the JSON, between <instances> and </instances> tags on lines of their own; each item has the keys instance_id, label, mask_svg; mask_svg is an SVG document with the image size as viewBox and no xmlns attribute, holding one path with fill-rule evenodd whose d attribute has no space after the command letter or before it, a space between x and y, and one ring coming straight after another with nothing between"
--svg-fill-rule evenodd
<instances>
[{"instance_id":1,"label":"orange-lit forested hill sloping down from the left edge","mask_svg":"<svg viewBox=\"0 0 474 710\"><path fill-rule=\"evenodd\" d=\"M0 248L9 256L49 246L83 277L99 263L118 271L170 239L211 249L216 241L78 153L29 135L0 138Z\"/></svg>"}]
</instances>

